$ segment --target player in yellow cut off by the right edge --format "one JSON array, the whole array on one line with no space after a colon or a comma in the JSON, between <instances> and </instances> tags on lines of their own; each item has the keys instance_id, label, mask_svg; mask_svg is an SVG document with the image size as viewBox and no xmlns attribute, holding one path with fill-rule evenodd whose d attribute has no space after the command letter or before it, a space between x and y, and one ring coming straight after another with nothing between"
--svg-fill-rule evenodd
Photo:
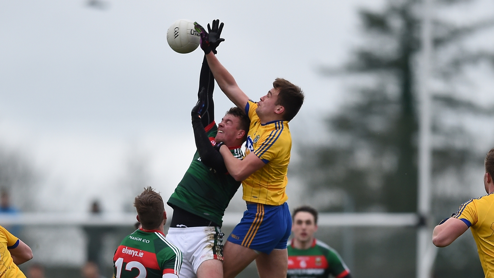
<instances>
[{"instance_id":1,"label":"player in yellow cut off by the right edge","mask_svg":"<svg viewBox=\"0 0 494 278\"><path fill-rule=\"evenodd\" d=\"M470 199L462 204L450 218L443 219L432 233L432 242L437 247L450 245L468 228L477 243L480 263L487 277L494 277L494 148L484 160L484 188L487 195Z\"/></svg>"}]
</instances>

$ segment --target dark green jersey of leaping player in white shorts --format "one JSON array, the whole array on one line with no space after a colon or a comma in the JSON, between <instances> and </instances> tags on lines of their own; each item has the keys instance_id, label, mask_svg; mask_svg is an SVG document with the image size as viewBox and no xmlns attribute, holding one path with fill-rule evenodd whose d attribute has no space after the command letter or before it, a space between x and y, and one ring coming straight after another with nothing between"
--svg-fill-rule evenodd
<instances>
[{"instance_id":1,"label":"dark green jersey of leaping player in white shorts","mask_svg":"<svg viewBox=\"0 0 494 278\"><path fill-rule=\"evenodd\" d=\"M218 132L216 124L212 122L205 130L214 145ZM241 146L230 148L230 151L235 157L242 159ZM171 207L178 206L221 226L225 209L240 185L241 182L235 181L229 174L216 173L214 169L204 165L196 151L189 169L167 204Z\"/></svg>"}]
</instances>

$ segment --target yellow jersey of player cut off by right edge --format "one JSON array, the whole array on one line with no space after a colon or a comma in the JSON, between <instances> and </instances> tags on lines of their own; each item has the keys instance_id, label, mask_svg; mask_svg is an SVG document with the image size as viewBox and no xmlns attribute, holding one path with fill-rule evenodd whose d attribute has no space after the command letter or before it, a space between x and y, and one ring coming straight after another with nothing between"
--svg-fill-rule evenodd
<instances>
[{"instance_id":1,"label":"yellow jersey of player cut off by right edge","mask_svg":"<svg viewBox=\"0 0 494 278\"><path fill-rule=\"evenodd\" d=\"M494 194L470 199L453 216L472 231L486 278L494 278Z\"/></svg>"}]
</instances>

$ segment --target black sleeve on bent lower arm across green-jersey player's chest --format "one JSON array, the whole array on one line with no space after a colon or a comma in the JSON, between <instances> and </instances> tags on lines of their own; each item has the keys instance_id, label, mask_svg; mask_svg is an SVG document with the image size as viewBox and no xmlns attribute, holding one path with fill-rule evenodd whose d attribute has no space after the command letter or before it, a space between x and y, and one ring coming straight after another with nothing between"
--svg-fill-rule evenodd
<instances>
[{"instance_id":1,"label":"black sleeve on bent lower arm across green-jersey player's chest","mask_svg":"<svg viewBox=\"0 0 494 278\"><path fill-rule=\"evenodd\" d=\"M194 129L194 139L196 140L197 151L199 152L199 156L201 156L201 161L204 165L213 168L218 173L228 173L223 156L221 156L221 154L211 145L211 141L209 141L209 138L206 135L201 119L193 118L192 127Z\"/></svg>"}]
</instances>

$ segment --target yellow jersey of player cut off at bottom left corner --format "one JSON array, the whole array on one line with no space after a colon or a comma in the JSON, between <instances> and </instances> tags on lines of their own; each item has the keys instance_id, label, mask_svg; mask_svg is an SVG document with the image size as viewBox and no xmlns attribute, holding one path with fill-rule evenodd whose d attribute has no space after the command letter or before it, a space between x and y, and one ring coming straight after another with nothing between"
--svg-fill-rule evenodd
<instances>
[{"instance_id":1,"label":"yellow jersey of player cut off at bottom left corner","mask_svg":"<svg viewBox=\"0 0 494 278\"><path fill-rule=\"evenodd\" d=\"M12 235L0 226L0 277L26 278L22 271L14 264L9 249L19 245L19 238Z\"/></svg>"}]
</instances>

